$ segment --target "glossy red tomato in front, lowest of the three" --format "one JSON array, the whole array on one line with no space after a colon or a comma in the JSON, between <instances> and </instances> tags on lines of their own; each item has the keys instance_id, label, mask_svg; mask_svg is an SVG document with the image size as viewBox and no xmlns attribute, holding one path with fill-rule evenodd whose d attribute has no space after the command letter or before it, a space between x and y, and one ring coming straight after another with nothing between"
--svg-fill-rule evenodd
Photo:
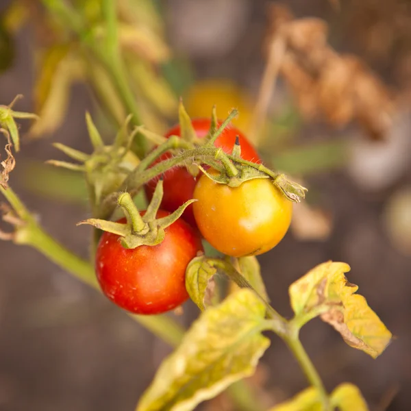
<instances>
[{"instance_id":1,"label":"glossy red tomato in front, lowest of the three","mask_svg":"<svg viewBox=\"0 0 411 411\"><path fill-rule=\"evenodd\" d=\"M159 210L157 217L169 214ZM97 279L103 293L117 306L135 314L160 314L188 299L186 267L203 250L201 240L182 219L165 233L159 245L135 249L125 249L116 234L104 232L101 236L95 262Z\"/></svg>"}]
</instances>

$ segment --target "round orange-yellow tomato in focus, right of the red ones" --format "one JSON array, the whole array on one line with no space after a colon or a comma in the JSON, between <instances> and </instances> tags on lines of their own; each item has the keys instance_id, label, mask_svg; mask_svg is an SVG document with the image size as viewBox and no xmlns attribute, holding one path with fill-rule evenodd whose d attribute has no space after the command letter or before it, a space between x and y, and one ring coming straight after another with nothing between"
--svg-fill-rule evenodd
<instances>
[{"instance_id":1,"label":"round orange-yellow tomato in focus, right of the red ones","mask_svg":"<svg viewBox=\"0 0 411 411\"><path fill-rule=\"evenodd\" d=\"M193 211L204 238L227 256L258 256L286 234L292 203L269 179L232 188L203 175L194 190Z\"/></svg>"}]
</instances>

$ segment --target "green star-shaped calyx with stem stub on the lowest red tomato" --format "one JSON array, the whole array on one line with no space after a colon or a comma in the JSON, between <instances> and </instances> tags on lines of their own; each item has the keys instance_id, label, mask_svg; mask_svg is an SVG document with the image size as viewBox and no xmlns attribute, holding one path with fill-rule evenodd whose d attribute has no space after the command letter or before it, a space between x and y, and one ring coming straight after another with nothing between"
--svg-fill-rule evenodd
<instances>
[{"instance_id":1,"label":"green star-shaped calyx with stem stub on the lowest red tomato","mask_svg":"<svg viewBox=\"0 0 411 411\"><path fill-rule=\"evenodd\" d=\"M184 210L196 201L195 199L186 201L175 212L157 219L156 215L160 208L162 196L163 181L160 179L155 188L153 199L151 199L151 203L145 212L138 211L132 196L128 192L119 195L117 204L125 213L126 224L101 219L88 219L80 221L77 225L88 224L105 232L116 234L121 238L121 245L126 249L134 249L140 245L158 245L164 240L166 227L175 223L182 216Z\"/></svg>"}]
</instances>

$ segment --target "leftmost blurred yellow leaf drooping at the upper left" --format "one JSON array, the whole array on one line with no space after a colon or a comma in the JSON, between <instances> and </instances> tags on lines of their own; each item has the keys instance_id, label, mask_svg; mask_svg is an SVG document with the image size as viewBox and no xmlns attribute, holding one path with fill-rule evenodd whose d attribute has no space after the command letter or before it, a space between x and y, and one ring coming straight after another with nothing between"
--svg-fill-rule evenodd
<instances>
[{"instance_id":1,"label":"leftmost blurred yellow leaf drooping at the upper left","mask_svg":"<svg viewBox=\"0 0 411 411\"><path fill-rule=\"evenodd\" d=\"M30 129L32 137L49 134L58 129L64 120L71 85L82 78L84 67L68 47L54 47L40 62L34 98L40 115Z\"/></svg>"}]
</instances>

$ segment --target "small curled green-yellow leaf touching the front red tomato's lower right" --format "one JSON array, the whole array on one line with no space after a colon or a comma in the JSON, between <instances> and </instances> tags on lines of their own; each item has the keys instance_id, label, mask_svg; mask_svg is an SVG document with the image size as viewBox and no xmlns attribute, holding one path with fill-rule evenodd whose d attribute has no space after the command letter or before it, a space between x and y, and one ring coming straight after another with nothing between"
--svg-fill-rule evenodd
<instances>
[{"instance_id":1,"label":"small curled green-yellow leaf touching the front red tomato's lower right","mask_svg":"<svg viewBox=\"0 0 411 411\"><path fill-rule=\"evenodd\" d=\"M186 269L186 289L201 311L206 309L205 297L210 279L217 270L210 266L205 256L193 258Z\"/></svg>"}]
</instances>

